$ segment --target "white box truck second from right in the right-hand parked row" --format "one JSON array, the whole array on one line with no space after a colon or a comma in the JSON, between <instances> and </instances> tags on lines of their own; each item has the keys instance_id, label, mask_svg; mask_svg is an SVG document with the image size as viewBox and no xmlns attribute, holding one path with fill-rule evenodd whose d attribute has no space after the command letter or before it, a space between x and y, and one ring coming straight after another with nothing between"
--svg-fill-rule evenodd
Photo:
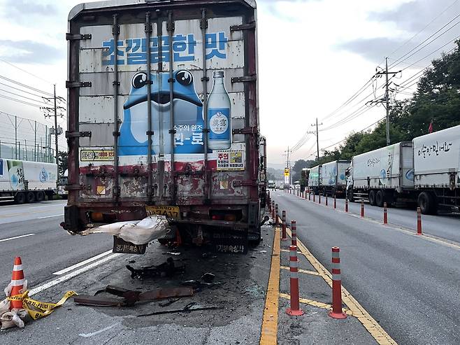
<instances>
[{"instance_id":1,"label":"white box truck second from right in the right-hand parked row","mask_svg":"<svg viewBox=\"0 0 460 345\"><path fill-rule=\"evenodd\" d=\"M414 198L412 143L403 141L352 157L347 197L383 206Z\"/></svg>"}]
</instances>

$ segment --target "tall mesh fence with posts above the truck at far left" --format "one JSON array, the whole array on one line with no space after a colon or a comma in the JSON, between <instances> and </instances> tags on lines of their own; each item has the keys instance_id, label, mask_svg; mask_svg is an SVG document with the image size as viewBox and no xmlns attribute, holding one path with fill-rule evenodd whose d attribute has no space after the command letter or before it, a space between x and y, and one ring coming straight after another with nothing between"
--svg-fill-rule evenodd
<instances>
[{"instance_id":1,"label":"tall mesh fence with posts above the truck at far left","mask_svg":"<svg viewBox=\"0 0 460 345\"><path fill-rule=\"evenodd\" d=\"M54 136L47 125L0 111L0 157L55 162Z\"/></svg>"}]
</instances>

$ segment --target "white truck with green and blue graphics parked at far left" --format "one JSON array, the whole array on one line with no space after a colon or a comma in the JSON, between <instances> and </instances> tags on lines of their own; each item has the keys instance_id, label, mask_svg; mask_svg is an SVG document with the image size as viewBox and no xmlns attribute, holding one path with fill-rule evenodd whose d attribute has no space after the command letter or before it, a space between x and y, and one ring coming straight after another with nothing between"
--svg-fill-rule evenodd
<instances>
[{"instance_id":1,"label":"white truck with green and blue graphics parked at far left","mask_svg":"<svg viewBox=\"0 0 460 345\"><path fill-rule=\"evenodd\" d=\"M56 191L57 164L0 158L1 202L42 202Z\"/></svg>"}]
</instances>

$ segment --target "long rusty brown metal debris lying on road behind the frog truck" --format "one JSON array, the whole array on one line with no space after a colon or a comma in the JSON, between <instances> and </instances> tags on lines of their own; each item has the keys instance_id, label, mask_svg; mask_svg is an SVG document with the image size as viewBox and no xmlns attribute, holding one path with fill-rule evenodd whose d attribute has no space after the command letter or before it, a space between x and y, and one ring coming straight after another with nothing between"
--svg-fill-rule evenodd
<instances>
[{"instance_id":1,"label":"long rusty brown metal debris lying on road behind the frog truck","mask_svg":"<svg viewBox=\"0 0 460 345\"><path fill-rule=\"evenodd\" d=\"M97 296L99 293L109 293L122 299ZM194 290L190 287L178 288L161 288L157 290L141 293L140 291L127 290L118 286L107 286L105 290L99 290L96 295L79 295L74 298L77 304L95 306L95 307L124 307L132 306L136 302L147 302L153 300L162 300L165 298L188 297L192 296Z\"/></svg>"}]
</instances>

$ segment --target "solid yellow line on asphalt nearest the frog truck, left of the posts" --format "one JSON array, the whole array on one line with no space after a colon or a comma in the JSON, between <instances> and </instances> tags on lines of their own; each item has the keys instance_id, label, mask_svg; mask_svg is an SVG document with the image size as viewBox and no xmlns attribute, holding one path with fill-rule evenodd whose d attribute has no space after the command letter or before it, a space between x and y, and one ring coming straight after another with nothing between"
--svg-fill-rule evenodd
<instances>
[{"instance_id":1,"label":"solid yellow line on asphalt nearest the frog truck, left of the posts","mask_svg":"<svg viewBox=\"0 0 460 345\"><path fill-rule=\"evenodd\" d=\"M275 228L273 252L271 254L270 277L265 299L264 319L260 345L275 345L278 342L278 294L280 293L280 228Z\"/></svg>"}]
</instances>

